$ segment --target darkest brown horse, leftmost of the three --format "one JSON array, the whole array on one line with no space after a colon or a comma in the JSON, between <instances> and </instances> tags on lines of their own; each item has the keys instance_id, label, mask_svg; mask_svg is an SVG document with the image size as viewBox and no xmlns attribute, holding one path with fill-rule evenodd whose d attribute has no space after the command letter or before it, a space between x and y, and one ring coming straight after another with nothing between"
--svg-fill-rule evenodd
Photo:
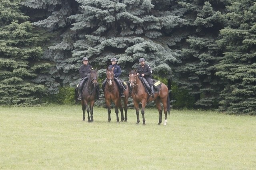
<instances>
[{"instance_id":1,"label":"darkest brown horse, leftmost of the three","mask_svg":"<svg viewBox=\"0 0 256 170\"><path fill-rule=\"evenodd\" d=\"M83 93L82 93L82 110L83 110L83 121L85 120L85 110L88 113L88 122L93 122L93 106L95 103L96 98L96 86L98 84L97 81L98 74L96 70L92 70L89 74L88 80L84 84ZM88 106L88 102L90 102L90 109ZM90 118L90 111L91 111L91 118Z\"/></svg>"}]
</instances>

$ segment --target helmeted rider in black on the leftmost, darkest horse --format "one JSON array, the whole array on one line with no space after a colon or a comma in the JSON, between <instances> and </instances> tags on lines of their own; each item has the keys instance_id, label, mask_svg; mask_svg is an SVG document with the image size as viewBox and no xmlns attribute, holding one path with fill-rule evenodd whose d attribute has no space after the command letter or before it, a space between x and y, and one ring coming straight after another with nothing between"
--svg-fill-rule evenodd
<instances>
[{"instance_id":1,"label":"helmeted rider in black on the leftmost, darkest horse","mask_svg":"<svg viewBox=\"0 0 256 170\"><path fill-rule=\"evenodd\" d=\"M84 87L85 82L88 80L89 74L91 72L91 70L93 70L92 66L90 64L88 64L88 58L84 57L82 59L83 65L80 66L79 68L79 73L80 73L80 77L81 77L81 81L79 83L78 86L78 98L77 100L82 100L82 89ZM100 86L96 86L96 98L99 99L99 94L100 93Z\"/></svg>"}]
</instances>

